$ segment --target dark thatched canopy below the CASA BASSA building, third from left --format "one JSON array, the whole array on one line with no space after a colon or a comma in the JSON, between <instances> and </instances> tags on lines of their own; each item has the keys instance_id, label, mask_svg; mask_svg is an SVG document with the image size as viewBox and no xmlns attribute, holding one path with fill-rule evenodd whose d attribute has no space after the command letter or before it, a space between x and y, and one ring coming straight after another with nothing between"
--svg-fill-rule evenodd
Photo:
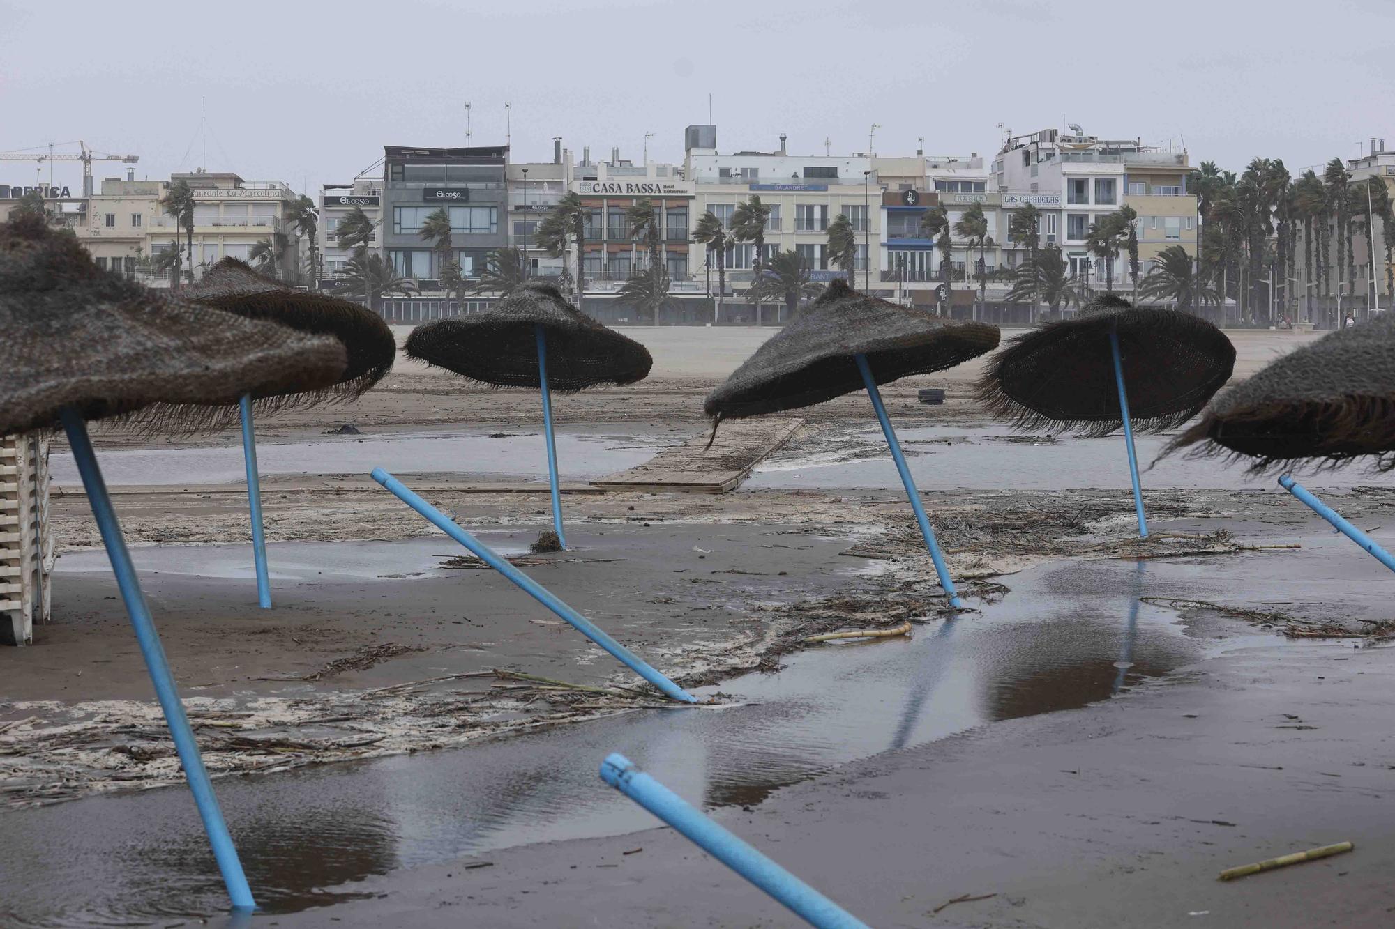
<instances>
[{"instance_id":1,"label":"dark thatched canopy below the CASA BASSA building, third from left","mask_svg":"<svg viewBox=\"0 0 1395 929\"><path fill-rule=\"evenodd\" d=\"M495 386L540 386L537 326L547 333L547 384L580 391L649 377L649 349L607 329L566 303L550 283L530 280L494 307L412 331L407 357Z\"/></svg>"}]
</instances>

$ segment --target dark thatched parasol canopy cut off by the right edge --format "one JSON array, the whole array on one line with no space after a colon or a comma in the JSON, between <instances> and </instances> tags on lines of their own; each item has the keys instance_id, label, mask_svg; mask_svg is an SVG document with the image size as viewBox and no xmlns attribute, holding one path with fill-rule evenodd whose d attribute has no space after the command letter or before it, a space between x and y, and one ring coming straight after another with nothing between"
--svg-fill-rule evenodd
<instances>
[{"instance_id":1,"label":"dark thatched parasol canopy cut off by the right edge","mask_svg":"<svg viewBox=\"0 0 1395 929\"><path fill-rule=\"evenodd\" d=\"M1329 332L1242 381L1168 448L1256 459L1262 471L1299 459L1395 469L1395 318Z\"/></svg>"}]
</instances>

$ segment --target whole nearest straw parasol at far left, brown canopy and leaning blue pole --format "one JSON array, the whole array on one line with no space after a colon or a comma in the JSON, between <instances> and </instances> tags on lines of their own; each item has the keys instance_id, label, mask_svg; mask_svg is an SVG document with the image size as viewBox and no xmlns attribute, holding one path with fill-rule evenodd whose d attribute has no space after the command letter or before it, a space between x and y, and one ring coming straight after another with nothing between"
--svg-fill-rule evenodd
<instances>
[{"instance_id":1,"label":"whole nearest straw parasol at far left, brown canopy and leaning blue pole","mask_svg":"<svg viewBox=\"0 0 1395 929\"><path fill-rule=\"evenodd\" d=\"M343 371L333 339L158 296L93 265L42 218L0 226L0 432L67 431L92 515L155 685L180 764L234 907L254 905L241 862L141 593L86 432L88 418L152 403L233 403Z\"/></svg>"}]
</instances>

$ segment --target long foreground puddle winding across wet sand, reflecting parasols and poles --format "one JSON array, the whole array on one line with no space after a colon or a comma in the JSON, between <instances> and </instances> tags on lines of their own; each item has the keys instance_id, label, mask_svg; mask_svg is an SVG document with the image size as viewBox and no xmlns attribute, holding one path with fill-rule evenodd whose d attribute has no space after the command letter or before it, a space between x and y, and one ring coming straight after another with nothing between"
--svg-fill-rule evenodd
<instances>
[{"instance_id":1,"label":"long foreground puddle winding across wet sand, reflecting parasols and poles","mask_svg":"<svg viewBox=\"0 0 1395 929\"><path fill-rule=\"evenodd\" d=\"M1334 590L1362 589L1352 572L1364 576L1366 566L1349 545L1315 552L1304 550L1311 564L1285 575L1293 591L1306 596L1306 577L1324 572ZM632 713L462 750L222 780L218 794L266 914L324 905L356 893L343 884L367 875L653 826L598 781L608 752L707 806L756 803L879 752L1078 707L1223 649L1272 643L1256 633L1191 635L1175 611L1138 601L1283 596L1272 577L1256 589L1258 565L1258 557L1235 557L1036 568L1016 575L1013 591L982 614L918 628L912 639L805 651L778 674L721 685L738 706ZM0 872L7 926L130 925L225 905L183 790L6 813Z\"/></svg>"}]
</instances>

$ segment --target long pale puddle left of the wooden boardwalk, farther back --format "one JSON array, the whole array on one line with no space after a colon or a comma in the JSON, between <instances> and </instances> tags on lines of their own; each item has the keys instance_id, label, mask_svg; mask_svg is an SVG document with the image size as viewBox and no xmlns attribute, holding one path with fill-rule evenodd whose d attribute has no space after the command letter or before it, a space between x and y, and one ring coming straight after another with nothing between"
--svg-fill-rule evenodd
<instances>
[{"instance_id":1,"label":"long pale puddle left of the wooden boardwalk, farther back","mask_svg":"<svg viewBox=\"0 0 1395 929\"><path fill-rule=\"evenodd\" d=\"M497 430L495 430L497 431ZM557 456L562 480L591 480L643 464L672 439L587 427L558 427ZM541 432L511 430L502 438L488 431L452 431L359 438L322 442L261 442L257 466L269 474L350 474L374 467L405 473L445 473L547 480L547 452ZM53 480L78 483L68 452L52 460ZM113 449L102 452L107 484L226 484L246 480L241 445L177 449Z\"/></svg>"}]
</instances>

